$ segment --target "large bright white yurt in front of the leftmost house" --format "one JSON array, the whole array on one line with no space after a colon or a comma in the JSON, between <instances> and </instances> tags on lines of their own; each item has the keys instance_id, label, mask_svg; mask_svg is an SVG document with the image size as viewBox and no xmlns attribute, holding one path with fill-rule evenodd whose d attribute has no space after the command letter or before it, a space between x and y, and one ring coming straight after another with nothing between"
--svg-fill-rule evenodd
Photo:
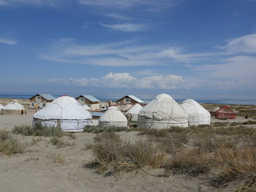
<instances>
[{"instance_id":1,"label":"large bright white yurt in front of the leftmost house","mask_svg":"<svg viewBox=\"0 0 256 192\"><path fill-rule=\"evenodd\" d=\"M43 126L60 126L63 131L81 132L91 125L92 116L75 98L62 96L34 114L35 122Z\"/></svg>"}]
</instances>

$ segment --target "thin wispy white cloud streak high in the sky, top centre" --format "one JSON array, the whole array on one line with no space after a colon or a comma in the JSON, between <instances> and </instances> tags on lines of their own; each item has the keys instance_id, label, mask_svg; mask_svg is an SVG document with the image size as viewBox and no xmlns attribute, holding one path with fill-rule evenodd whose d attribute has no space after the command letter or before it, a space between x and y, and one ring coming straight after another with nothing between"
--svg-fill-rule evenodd
<instances>
[{"instance_id":1,"label":"thin wispy white cloud streak high in the sky, top centre","mask_svg":"<svg viewBox=\"0 0 256 192\"><path fill-rule=\"evenodd\" d=\"M100 25L110 28L111 30L121 30L126 32L145 31L150 28L146 24L134 24L134 23L123 23L123 24L114 24L114 25L100 23Z\"/></svg>"}]
</instances>

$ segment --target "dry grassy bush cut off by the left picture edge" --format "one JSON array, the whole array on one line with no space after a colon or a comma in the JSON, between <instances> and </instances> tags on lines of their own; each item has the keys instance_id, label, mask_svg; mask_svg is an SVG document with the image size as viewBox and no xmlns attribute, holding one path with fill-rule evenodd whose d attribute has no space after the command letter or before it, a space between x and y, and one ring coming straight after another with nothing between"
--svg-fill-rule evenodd
<instances>
[{"instance_id":1,"label":"dry grassy bush cut off by the left picture edge","mask_svg":"<svg viewBox=\"0 0 256 192\"><path fill-rule=\"evenodd\" d=\"M2 154L22 154L25 147L6 130L0 130L0 152Z\"/></svg>"}]
</instances>

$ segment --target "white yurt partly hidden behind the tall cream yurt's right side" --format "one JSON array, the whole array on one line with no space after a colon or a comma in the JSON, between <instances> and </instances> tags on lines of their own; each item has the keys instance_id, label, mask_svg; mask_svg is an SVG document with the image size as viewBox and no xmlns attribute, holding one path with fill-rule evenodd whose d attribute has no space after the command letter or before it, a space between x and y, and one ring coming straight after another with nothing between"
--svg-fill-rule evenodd
<instances>
[{"instance_id":1,"label":"white yurt partly hidden behind the tall cream yurt's right side","mask_svg":"<svg viewBox=\"0 0 256 192\"><path fill-rule=\"evenodd\" d=\"M210 112L193 99L186 99L181 106L189 114L189 125L210 125Z\"/></svg>"}]
</instances>

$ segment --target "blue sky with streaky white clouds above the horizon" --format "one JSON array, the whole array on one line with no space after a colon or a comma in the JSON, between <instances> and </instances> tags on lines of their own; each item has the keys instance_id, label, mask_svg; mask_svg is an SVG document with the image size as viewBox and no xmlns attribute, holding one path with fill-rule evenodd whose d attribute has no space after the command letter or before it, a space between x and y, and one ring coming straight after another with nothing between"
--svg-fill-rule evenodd
<instances>
[{"instance_id":1,"label":"blue sky with streaky white clouds above the horizon","mask_svg":"<svg viewBox=\"0 0 256 192\"><path fill-rule=\"evenodd\" d=\"M0 0L0 93L255 98L255 0Z\"/></svg>"}]
</instances>

